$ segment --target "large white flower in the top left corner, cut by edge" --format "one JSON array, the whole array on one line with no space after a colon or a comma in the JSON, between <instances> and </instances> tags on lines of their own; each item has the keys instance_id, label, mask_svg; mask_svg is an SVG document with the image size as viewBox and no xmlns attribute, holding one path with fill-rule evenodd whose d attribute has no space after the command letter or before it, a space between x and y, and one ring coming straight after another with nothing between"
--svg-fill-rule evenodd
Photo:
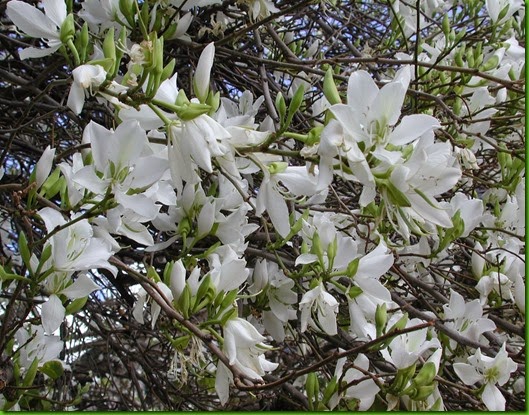
<instances>
[{"instance_id":1,"label":"large white flower in the top left corner, cut by edge","mask_svg":"<svg viewBox=\"0 0 529 415\"><path fill-rule=\"evenodd\" d=\"M29 47L20 52L20 59L40 58L51 55L61 45L61 26L66 20L66 4L62 0L42 0L44 13L25 1L11 0L7 3L7 16L19 30L34 38L42 38L48 45L39 49Z\"/></svg>"}]
</instances>

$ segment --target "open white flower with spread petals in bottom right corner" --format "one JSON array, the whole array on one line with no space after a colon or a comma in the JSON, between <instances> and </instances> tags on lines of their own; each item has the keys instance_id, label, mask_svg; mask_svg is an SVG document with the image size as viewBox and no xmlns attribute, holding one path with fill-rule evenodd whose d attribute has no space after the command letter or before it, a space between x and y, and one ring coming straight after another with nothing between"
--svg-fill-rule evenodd
<instances>
[{"instance_id":1,"label":"open white flower with spread petals in bottom right corner","mask_svg":"<svg viewBox=\"0 0 529 415\"><path fill-rule=\"evenodd\" d=\"M454 370L466 385L485 384L481 399L489 411L504 411L505 398L496 384L502 386L518 365L507 355L505 343L495 357L483 356L478 349L467 359L468 363L454 363Z\"/></svg>"}]
</instances>

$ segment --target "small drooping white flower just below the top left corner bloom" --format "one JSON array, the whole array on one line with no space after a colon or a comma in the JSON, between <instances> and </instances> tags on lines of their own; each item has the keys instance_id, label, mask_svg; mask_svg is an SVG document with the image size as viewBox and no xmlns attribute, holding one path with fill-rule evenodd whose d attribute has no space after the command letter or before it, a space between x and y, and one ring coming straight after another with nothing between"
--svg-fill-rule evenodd
<instances>
[{"instance_id":1,"label":"small drooping white flower just below the top left corner bloom","mask_svg":"<svg viewBox=\"0 0 529 415\"><path fill-rule=\"evenodd\" d=\"M66 105L75 113L83 110L87 95L93 95L93 89L105 82L107 72L101 65L81 65L72 71L73 84Z\"/></svg>"}]
</instances>

